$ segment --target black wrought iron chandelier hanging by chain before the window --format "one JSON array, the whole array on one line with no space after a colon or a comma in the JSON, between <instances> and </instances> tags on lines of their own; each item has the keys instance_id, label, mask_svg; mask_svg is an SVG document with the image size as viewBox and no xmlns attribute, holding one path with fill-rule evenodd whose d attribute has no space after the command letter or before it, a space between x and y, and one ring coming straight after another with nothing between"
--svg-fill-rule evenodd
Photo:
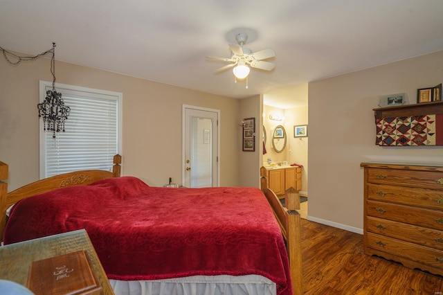
<instances>
[{"instance_id":1,"label":"black wrought iron chandelier hanging by chain before the window","mask_svg":"<svg viewBox=\"0 0 443 295\"><path fill-rule=\"evenodd\" d=\"M53 74L53 89L46 91L44 102L37 105L39 117L43 118L44 130L52 131L53 138L55 132L64 132L64 121L68 118L71 108L64 105L62 93L55 90L55 43L49 52L53 53L51 58L51 73Z\"/></svg>"}]
</instances>

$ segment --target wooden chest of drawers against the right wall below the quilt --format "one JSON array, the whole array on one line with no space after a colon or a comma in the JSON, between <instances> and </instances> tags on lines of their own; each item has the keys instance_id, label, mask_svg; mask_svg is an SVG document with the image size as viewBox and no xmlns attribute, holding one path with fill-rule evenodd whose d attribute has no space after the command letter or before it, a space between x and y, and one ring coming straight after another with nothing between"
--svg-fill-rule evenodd
<instances>
[{"instance_id":1,"label":"wooden chest of drawers against the right wall below the quilt","mask_svg":"<svg viewBox=\"0 0 443 295\"><path fill-rule=\"evenodd\" d=\"M361 167L365 254L443 275L443 166Z\"/></svg>"}]
</instances>

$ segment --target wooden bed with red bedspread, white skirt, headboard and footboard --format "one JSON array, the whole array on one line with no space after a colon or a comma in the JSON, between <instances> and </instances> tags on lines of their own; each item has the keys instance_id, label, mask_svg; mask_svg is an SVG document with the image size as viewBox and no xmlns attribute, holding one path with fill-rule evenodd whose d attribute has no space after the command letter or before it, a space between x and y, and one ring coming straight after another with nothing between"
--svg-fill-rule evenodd
<instances>
[{"instance_id":1,"label":"wooden bed with red bedspread, white skirt, headboard and footboard","mask_svg":"<svg viewBox=\"0 0 443 295\"><path fill-rule=\"evenodd\" d=\"M302 293L299 215L271 190L150 187L120 177L120 162L11 193L2 182L5 244L84 228L116 294ZM7 174L0 162L0 179Z\"/></svg>"}]
</instances>

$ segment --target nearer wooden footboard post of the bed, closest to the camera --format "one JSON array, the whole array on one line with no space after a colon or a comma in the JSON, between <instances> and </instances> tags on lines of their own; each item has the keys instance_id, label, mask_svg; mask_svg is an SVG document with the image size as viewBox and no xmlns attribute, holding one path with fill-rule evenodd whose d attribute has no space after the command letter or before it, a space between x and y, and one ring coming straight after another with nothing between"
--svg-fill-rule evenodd
<instances>
[{"instance_id":1,"label":"nearer wooden footboard post of the bed, closest to the camera","mask_svg":"<svg viewBox=\"0 0 443 295\"><path fill-rule=\"evenodd\" d=\"M296 209L300 209L300 194L291 187L284 192L284 199L287 204L287 248L289 255L289 265L291 265L291 280L294 294L303 294L302 282L302 247L300 231L300 214Z\"/></svg>"}]
</instances>

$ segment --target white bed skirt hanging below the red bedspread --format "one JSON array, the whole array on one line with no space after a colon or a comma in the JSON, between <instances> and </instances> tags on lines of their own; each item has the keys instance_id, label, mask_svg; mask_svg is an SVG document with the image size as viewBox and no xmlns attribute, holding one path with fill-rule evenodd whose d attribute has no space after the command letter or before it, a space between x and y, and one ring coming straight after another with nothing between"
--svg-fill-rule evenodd
<instances>
[{"instance_id":1,"label":"white bed skirt hanging below the red bedspread","mask_svg":"<svg viewBox=\"0 0 443 295\"><path fill-rule=\"evenodd\" d=\"M189 276L165 280L109 280L116 295L275 295L264 276Z\"/></svg>"}]
</instances>

